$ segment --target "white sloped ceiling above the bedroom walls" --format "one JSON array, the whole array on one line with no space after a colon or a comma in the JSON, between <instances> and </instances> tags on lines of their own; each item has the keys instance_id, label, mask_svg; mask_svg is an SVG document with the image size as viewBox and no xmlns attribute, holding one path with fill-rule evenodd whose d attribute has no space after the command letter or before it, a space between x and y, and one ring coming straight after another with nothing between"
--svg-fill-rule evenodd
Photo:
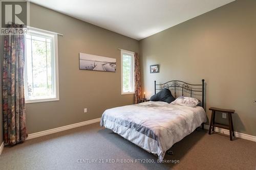
<instances>
[{"instance_id":1,"label":"white sloped ceiling above the bedroom walls","mask_svg":"<svg viewBox=\"0 0 256 170\"><path fill-rule=\"evenodd\" d=\"M30 0L137 40L235 0Z\"/></svg>"}]
</instances>

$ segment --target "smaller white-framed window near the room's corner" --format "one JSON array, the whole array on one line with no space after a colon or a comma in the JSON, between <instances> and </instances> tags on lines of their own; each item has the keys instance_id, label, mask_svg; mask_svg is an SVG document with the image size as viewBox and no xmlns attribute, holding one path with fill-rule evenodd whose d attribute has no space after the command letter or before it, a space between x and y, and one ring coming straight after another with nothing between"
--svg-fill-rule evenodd
<instances>
[{"instance_id":1,"label":"smaller white-framed window near the room's corner","mask_svg":"<svg viewBox=\"0 0 256 170\"><path fill-rule=\"evenodd\" d=\"M135 93L133 52L121 51L121 83L122 94Z\"/></svg>"}]
</instances>

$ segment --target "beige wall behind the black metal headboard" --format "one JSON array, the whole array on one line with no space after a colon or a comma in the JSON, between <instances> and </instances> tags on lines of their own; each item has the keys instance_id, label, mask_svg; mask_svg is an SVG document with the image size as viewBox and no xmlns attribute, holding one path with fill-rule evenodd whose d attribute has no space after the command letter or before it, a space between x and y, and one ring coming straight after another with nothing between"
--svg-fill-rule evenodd
<instances>
[{"instance_id":1,"label":"beige wall behind the black metal headboard","mask_svg":"<svg viewBox=\"0 0 256 170\"><path fill-rule=\"evenodd\" d=\"M154 80L201 83L204 78L207 116L209 107L234 109L235 130L256 136L256 1L237 0L139 45L147 97L154 92ZM160 64L159 74L150 74L152 64Z\"/></svg>"}]
</instances>

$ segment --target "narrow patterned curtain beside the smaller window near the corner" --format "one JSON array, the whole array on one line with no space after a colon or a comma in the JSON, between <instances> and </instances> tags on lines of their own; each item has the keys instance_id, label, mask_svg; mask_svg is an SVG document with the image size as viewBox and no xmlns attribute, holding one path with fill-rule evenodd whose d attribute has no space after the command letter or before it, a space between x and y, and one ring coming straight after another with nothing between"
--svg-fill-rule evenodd
<instances>
[{"instance_id":1,"label":"narrow patterned curtain beside the smaller window near the corner","mask_svg":"<svg viewBox=\"0 0 256 170\"><path fill-rule=\"evenodd\" d=\"M134 74L135 74L135 104L139 103L139 99L141 98L141 82L140 82L140 62L139 55L135 53L134 55L135 66L134 66Z\"/></svg>"}]
</instances>

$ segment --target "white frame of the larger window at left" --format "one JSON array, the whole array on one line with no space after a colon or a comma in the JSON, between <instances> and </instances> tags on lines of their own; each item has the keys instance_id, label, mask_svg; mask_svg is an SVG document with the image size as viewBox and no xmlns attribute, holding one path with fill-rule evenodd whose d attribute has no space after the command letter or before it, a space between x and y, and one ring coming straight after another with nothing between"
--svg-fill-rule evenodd
<instances>
[{"instance_id":1,"label":"white frame of the larger window at left","mask_svg":"<svg viewBox=\"0 0 256 170\"><path fill-rule=\"evenodd\" d=\"M52 56L54 55L54 57L52 57L52 63L54 64L54 68L52 68L52 72L53 72L53 80L55 82L53 82L53 85L55 86L55 88L53 89L56 96L55 98L45 98L45 99L31 99L31 100L27 100L27 62L26 62L26 58L27 58L27 48L25 46L25 69L24 69L24 88L25 88L25 103L39 103L39 102L51 102L51 101L59 101L59 72L58 72L58 35L57 33L54 32L50 32L50 31L46 31L46 30L41 30L41 29L36 29L36 28L32 28L29 27L28 33L32 33L32 34L37 34L37 35L41 35L41 36L46 36L46 37L51 37L52 38L52 42L54 43L54 45L51 47L51 52L52 52ZM26 44L26 36L25 36L25 44Z\"/></svg>"}]
</instances>

